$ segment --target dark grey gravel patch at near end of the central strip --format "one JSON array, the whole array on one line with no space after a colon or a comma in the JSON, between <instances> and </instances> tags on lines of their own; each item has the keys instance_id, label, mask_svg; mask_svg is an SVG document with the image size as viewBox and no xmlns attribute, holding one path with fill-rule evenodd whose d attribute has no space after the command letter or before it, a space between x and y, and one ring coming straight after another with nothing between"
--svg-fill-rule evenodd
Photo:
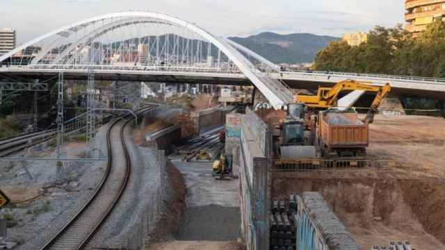
<instances>
[{"instance_id":1,"label":"dark grey gravel patch at near end of the central strip","mask_svg":"<svg viewBox=\"0 0 445 250\"><path fill-rule=\"evenodd\" d=\"M179 240L226 241L240 237L239 208L218 205L186 209L181 222Z\"/></svg>"}]
</instances>

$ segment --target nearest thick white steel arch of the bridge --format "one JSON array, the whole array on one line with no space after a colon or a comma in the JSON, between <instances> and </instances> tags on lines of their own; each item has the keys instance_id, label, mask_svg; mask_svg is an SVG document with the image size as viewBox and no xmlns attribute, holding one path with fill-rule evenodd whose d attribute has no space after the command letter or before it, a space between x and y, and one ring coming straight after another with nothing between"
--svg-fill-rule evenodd
<instances>
[{"instance_id":1,"label":"nearest thick white steel arch of the bridge","mask_svg":"<svg viewBox=\"0 0 445 250\"><path fill-rule=\"evenodd\" d=\"M39 38L35 38L30 42L26 42L22 46L17 47L17 49L6 53L5 55L0 57L0 62L6 60L7 58L12 57L15 53L26 49L27 47L31 47L33 44L38 44L42 40L47 38L51 38L53 35L67 35L68 36L76 31L78 31L81 27L88 26L90 24L95 24L97 22L113 19L113 18L152 18L161 20L162 22L168 22L171 24L175 24L182 28L186 28L197 35L200 35L202 38L208 40L214 46L218 47L220 51L222 51L227 58L229 58L240 71L252 81L252 83L264 94L264 96L270 101L273 107L280 108L281 106L289 103L293 99L293 94L290 90L288 90L282 83L279 81L270 78L267 74L260 72L245 56L243 56L238 50L236 50L232 45L230 45L227 40L224 38L219 38L208 31L205 31L200 26L196 24L192 24L183 19L179 19L178 17L172 17L170 15L166 15L161 12L149 12L149 11L122 11L122 12L114 12L111 14L101 15L98 17L92 17L89 19L84 19L83 21L76 22L74 24L70 24L64 26L62 28L58 28L55 31L51 31L47 34L40 36ZM245 51L245 50L244 50Z\"/></svg>"}]
</instances>

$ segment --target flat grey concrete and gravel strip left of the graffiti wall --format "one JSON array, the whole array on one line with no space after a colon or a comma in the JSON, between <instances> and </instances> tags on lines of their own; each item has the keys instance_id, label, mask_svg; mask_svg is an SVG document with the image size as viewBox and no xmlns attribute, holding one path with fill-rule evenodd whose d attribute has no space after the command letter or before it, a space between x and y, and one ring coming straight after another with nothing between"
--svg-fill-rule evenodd
<instances>
[{"instance_id":1,"label":"flat grey concrete and gravel strip left of the graffiti wall","mask_svg":"<svg viewBox=\"0 0 445 250\"><path fill-rule=\"evenodd\" d=\"M241 235L239 181L216 181L212 163L182 162L170 156L187 186L179 240L232 241ZM238 173L238 168L234 168Z\"/></svg>"}]
</instances>

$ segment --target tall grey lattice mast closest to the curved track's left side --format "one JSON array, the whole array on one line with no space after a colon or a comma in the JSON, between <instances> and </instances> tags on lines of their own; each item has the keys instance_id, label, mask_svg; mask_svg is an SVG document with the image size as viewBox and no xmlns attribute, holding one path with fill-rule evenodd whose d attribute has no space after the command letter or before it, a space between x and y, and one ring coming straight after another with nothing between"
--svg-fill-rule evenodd
<instances>
[{"instance_id":1,"label":"tall grey lattice mast closest to the curved track's left side","mask_svg":"<svg viewBox=\"0 0 445 250\"><path fill-rule=\"evenodd\" d=\"M87 114L86 114L86 141L90 152L94 149L95 138L95 72L92 67L88 68L87 89Z\"/></svg>"}]
</instances>

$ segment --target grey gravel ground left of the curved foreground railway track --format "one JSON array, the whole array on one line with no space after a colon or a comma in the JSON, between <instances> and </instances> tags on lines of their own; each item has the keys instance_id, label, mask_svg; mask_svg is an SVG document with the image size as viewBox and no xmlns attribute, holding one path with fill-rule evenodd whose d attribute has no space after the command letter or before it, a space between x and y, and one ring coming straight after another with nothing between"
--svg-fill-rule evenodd
<instances>
[{"instance_id":1,"label":"grey gravel ground left of the curved foreground railway track","mask_svg":"<svg viewBox=\"0 0 445 250\"><path fill-rule=\"evenodd\" d=\"M106 129L99 129L95 139L96 147L106 152ZM54 156L54 153L51 153ZM38 188L42 194L37 199L18 203L16 208L5 208L0 217L12 215L17 225L8 228L9 242L19 242L16 249L32 250L43 247L55 233L65 225L92 195L104 174L106 161L94 163L64 163L57 173L56 161L35 161L27 168L32 179L24 174L20 163L2 163L0 188Z\"/></svg>"}]
</instances>

